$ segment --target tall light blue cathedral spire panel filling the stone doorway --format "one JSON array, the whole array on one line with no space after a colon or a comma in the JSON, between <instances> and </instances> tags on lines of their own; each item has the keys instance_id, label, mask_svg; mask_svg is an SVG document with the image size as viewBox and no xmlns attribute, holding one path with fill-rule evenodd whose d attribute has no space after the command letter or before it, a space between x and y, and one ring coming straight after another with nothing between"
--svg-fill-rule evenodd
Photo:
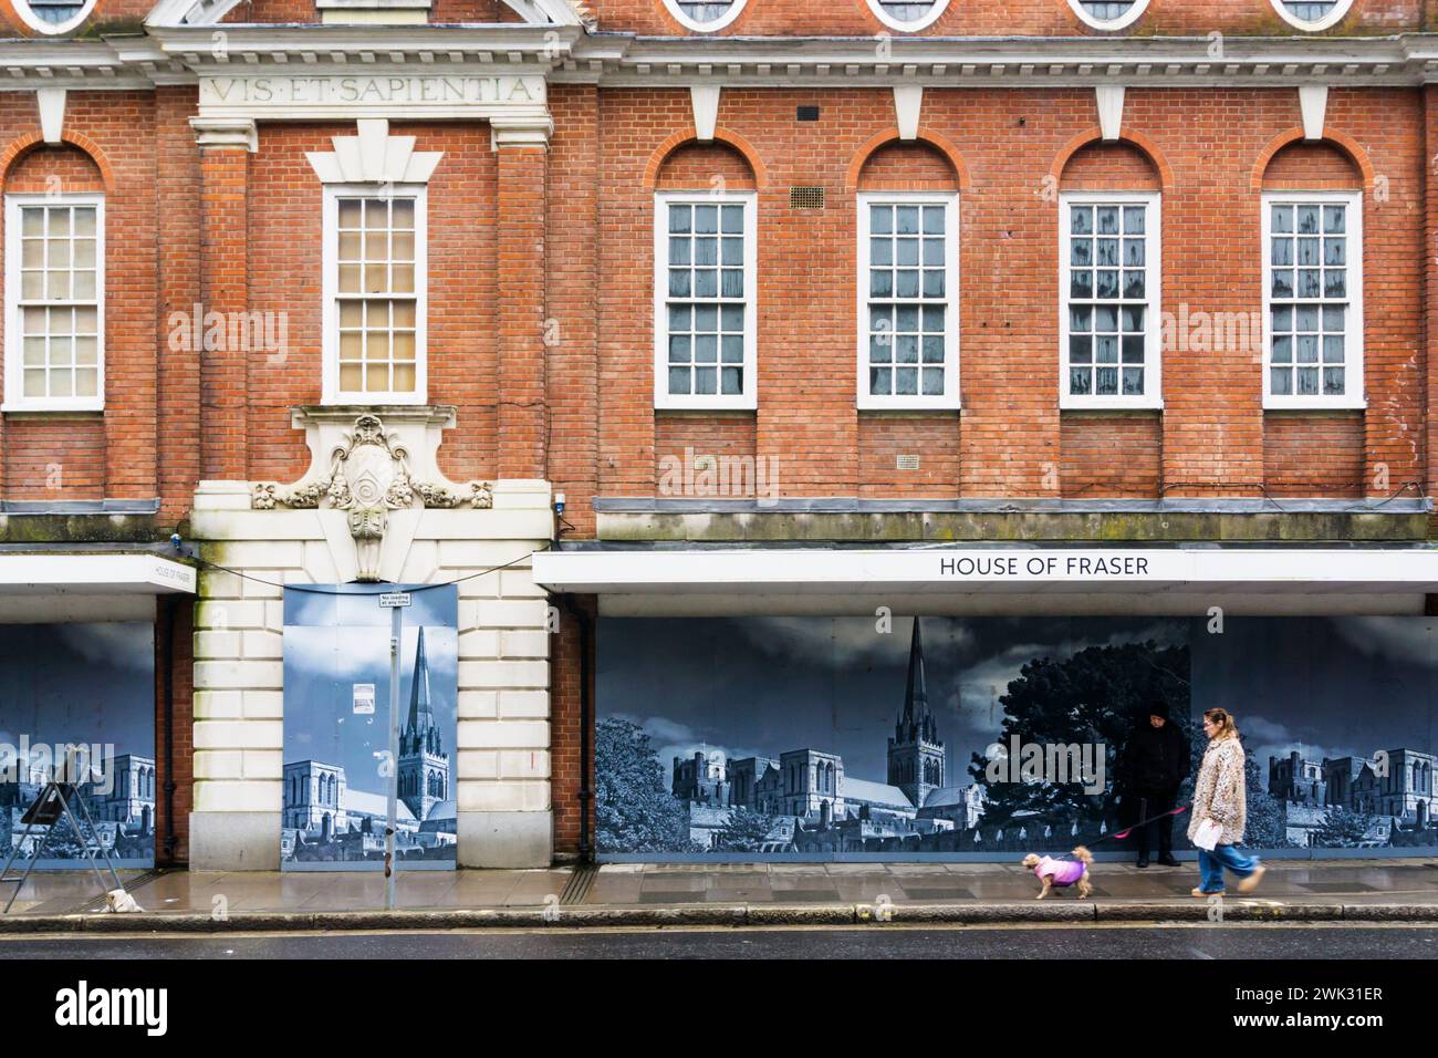
<instances>
[{"instance_id":1,"label":"tall light blue cathedral spire panel filling the stone doorway","mask_svg":"<svg viewBox=\"0 0 1438 1058\"><path fill-rule=\"evenodd\" d=\"M400 750L390 754L391 612L372 586L285 589L280 868L383 869L397 783L397 869L457 862L453 584L385 589L400 607Z\"/></svg>"}]
</instances>

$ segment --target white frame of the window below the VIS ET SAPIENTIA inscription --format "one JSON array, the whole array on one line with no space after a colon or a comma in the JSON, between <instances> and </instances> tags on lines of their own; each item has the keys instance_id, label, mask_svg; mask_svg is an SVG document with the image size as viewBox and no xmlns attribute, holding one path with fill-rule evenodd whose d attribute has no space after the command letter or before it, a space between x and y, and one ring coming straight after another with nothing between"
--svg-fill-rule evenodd
<instances>
[{"instance_id":1,"label":"white frame of the window below the VIS ET SAPIENTIA inscription","mask_svg":"<svg viewBox=\"0 0 1438 1058\"><path fill-rule=\"evenodd\" d=\"M339 200L414 199L414 392L370 393L339 389ZM426 404L429 403L429 186L427 184L325 184L324 186L324 308L321 311L322 404Z\"/></svg>"}]
</instances>

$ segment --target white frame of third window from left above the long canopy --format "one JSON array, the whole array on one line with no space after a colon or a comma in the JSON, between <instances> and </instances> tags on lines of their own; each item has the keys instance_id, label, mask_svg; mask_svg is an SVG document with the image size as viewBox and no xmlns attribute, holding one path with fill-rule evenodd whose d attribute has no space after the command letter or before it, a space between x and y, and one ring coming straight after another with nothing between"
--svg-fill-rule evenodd
<instances>
[{"instance_id":1,"label":"white frame of third window from left above the long canopy","mask_svg":"<svg viewBox=\"0 0 1438 1058\"><path fill-rule=\"evenodd\" d=\"M1143 222L1143 393L1071 394L1068 392L1068 305L1070 297L1070 219L1068 206L1148 204ZM1058 407L1060 409L1160 409L1163 407L1163 194L1162 191L1061 191L1058 194ZM1122 366L1122 343L1119 353ZM1119 374L1123 387L1123 374Z\"/></svg>"}]
</instances>

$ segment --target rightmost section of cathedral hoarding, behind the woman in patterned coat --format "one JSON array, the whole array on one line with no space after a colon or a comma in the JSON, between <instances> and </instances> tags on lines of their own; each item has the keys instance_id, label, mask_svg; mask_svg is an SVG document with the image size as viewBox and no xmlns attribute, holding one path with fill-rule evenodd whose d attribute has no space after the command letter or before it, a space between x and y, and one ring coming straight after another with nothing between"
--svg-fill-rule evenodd
<instances>
[{"instance_id":1,"label":"rightmost section of cathedral hoarding, behind the woman in patterned coat","mask_svg":"<svg viewBox=\"0 0 1438 1058\"><path fill-rule=\"evenodd\" d=\"M1432 855L1438 620L1192 625L1195 717L1222 707L1247 756L1247 844L1277 855Z\"/></svg>"}]
</instances>

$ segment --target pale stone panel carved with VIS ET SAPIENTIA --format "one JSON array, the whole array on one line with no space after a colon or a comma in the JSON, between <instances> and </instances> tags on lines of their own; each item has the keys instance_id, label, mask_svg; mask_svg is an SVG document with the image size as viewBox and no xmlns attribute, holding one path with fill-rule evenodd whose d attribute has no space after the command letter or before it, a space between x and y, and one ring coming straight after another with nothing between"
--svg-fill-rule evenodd
<instances>
[{"instance_id":1,"label":"pale stone panel carved with VIS ET SAPIENTIA","mask_svg":"<svg viewBox=\"0 0 1438 1058\"><path fill-rule=\"evenodd\" d=\"M213 118L470 117L546 112L545 79L531 75L256 75L200 79Z\"/></svg>"}]
</instances>

